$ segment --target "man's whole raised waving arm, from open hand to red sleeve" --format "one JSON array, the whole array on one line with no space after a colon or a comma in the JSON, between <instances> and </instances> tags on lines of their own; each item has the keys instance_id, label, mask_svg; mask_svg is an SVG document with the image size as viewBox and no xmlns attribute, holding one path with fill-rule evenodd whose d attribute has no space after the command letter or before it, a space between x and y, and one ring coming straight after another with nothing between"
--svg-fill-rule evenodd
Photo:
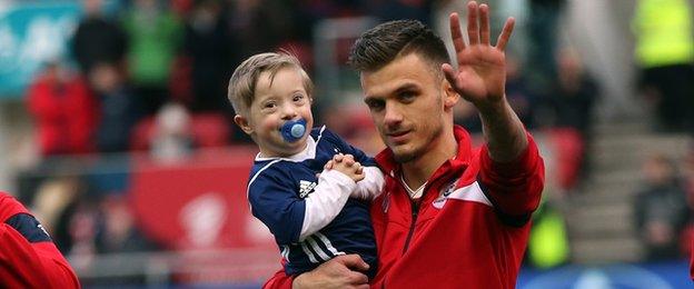
<instances>
[{"instance_id":1,"label":"man's whole raised waving arm, from open hand to red sleeve","mask_svg":"<svg viewBox=\"0 0 694 289\"><path fill-rule=\"evenodd\" d=\"M486 146L480 160L480 185L502 220L523 226L539 203L544 185L544 165L532 137L513 111L505 96L505 48L514 27L509 18L496 47L489 43L489 8L470 1L467 4L466 46L458 16L450 14L450 36L458 68L444 64L453 89L479 111ZM479 19L479 21L478 21Z\"/></svg>"}]
</instances>

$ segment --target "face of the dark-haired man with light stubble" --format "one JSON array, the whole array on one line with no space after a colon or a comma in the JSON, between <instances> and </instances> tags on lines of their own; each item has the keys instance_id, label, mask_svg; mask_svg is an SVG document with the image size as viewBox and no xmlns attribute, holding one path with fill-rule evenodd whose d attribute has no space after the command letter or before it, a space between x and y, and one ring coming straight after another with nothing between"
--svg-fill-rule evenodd
<instances>
[{"instance_id":1,"label":"face of the dark-haired man with light stubble","mask_svg":"<svg viewBox=\"0 0 694 289\"><path fill-rule=\"evenodd\" d=\"M436 147L446 120L443 78L416 53L361 72L364 102L396 161L408 162ZM457 99L456 99L457 100Z\"/></svg>"}]
</instances>

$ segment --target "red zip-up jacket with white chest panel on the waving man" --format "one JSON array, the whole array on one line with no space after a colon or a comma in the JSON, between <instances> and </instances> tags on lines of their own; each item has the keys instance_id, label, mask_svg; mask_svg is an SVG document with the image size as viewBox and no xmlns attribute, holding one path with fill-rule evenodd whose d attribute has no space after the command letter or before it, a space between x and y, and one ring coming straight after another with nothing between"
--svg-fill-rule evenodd
<instances>
[{"instance_id":1,"label":"red zip-up jacket with white chest panel on the waving man","mask_svg":"<svg viewBox=\"0 0 694 289\"><path fill-rule=\"evenodd\" d=\"M528 148L510 163L495 163L487 148L473 149L455 128L458 153L410 200L399 166L386 149L376 161L386 173L384 193L371 203L378 273L371 288L515 288L527 246L529 217L544 183L544 163ZM265 288L290 288L277 272Z\"/></svg>"}]
</instances>

